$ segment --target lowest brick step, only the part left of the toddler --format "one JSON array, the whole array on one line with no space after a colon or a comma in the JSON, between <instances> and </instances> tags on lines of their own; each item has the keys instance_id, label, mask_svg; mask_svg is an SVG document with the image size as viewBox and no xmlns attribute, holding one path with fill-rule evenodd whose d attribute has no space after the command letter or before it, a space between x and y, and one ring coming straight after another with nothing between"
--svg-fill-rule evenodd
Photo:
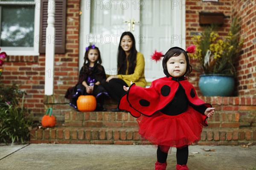
<instances>
[{"instance_id":1,"label":"lowest brick step, only the part left of the toddler","mask_svg":"<svg viewBox=\"0 0 256 170\"><path fill-rule=\"evenodd\" d=\"M138 128L53 127L34 128L30 143L141 144ZM148 142L149 144L149 142Z\"/></svg>"}]
</instances>

